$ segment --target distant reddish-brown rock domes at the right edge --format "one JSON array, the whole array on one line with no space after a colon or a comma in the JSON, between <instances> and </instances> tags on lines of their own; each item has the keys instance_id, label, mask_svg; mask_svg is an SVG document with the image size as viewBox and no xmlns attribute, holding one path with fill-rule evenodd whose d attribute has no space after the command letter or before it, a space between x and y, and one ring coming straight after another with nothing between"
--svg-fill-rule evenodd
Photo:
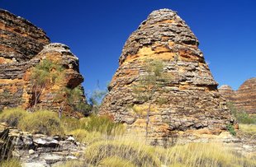
<instances>
[{"instance_id":1,"label":"distant reddish-brown rock domes at the right edge","mask_svg":"<svg viewBox=\"0 0 256 167\"><path fill-rule=\"evenodd\" d=\"M235 109L256 114L256 77L244 81L238 90L229 89L228 86L220 86L219 91L226 100L234 104Z\"/></svg>"}]
</instances>

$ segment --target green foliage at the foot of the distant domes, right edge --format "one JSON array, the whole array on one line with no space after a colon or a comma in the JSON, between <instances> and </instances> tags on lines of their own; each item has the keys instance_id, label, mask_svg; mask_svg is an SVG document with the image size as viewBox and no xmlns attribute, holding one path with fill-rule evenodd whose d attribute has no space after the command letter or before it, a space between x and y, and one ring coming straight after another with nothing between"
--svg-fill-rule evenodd
<instances>
[{"instance_id":1,"label":"green foliage at the foot of the distant domes, right edge","mask_svg":"<svg viewBox=\"0 0 256 167\"><path fill-rule=\"evenodd\" d=\"M235 109L235 105L233 103L228 103L227 106L230 109L231 113L235 116L238 123L256 124L256 117L250 116L244 111L239 111Z\"/></svg>"}]
</instances>

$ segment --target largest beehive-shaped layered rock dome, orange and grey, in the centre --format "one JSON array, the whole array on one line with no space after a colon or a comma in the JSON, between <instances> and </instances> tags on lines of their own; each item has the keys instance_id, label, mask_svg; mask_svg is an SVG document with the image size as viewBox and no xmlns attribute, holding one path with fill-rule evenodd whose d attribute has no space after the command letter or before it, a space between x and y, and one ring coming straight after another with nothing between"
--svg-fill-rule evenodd
<instances>
[{"instance_id":1,"label":"largest beehive-shaped layered rock dome, orange and grey, in the centre","mask_svg":"<svg viewBox=\"0 0 256 167\"><path fill-rule=\"evenodd\" d=\"M145 114L149 114L149 137L163 138L187 134L220 134L234 123L224 99L220 97L197 37L176 12L162 9L152 12L133 32L122 50L119 67L103 100L100 114L110 114L125 123L130 131L145 132ZM133 93L145 76L146 59L159 59L164 73L171 76L154 98L141 104ZM164 104L157 99L167 100ZM142 114L135 112L142 110Z\"/></svg>"}]
</instances>

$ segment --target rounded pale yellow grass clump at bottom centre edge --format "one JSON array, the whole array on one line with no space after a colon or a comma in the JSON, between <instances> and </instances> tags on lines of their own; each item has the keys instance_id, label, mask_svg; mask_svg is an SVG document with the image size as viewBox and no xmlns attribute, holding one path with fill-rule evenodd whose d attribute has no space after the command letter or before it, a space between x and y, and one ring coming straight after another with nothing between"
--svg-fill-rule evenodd
<instances>
[{"instance_id":1,"label":"rounded pale yellow grass clump at bottom centre edge","mask_svg":"<svg viewBox=\"0 0 256 167\"><path fill-rule=\"evenodd\" d=\"M130 161L134 166L161 166L160 160L154 155L154 149L151 146L144 146L140 143L130 141L98 141L88 146L85 157L89 164L101 165L102 163L111 163L111 158L118 159L116 163ZM114 166L121 166L114 165Z\"/></svg>"}]
</instances>

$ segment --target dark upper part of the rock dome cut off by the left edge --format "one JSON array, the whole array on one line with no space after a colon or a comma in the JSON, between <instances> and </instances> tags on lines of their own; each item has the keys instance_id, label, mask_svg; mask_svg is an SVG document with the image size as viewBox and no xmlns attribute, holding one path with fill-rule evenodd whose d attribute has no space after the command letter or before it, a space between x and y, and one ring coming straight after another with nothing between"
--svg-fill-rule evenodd
<instances>
[{"instance_id":1,"label":"dark upper part of the rock dome cut off by the left edge","mask_svg":"<svg viewBox=\"0 0 256 167\"><path fill-rule=\"evenodd\" d=\"M0 9L0 63L22 63L35 57L50 39L30 21Z\"/></svg>"}]
</instances>

